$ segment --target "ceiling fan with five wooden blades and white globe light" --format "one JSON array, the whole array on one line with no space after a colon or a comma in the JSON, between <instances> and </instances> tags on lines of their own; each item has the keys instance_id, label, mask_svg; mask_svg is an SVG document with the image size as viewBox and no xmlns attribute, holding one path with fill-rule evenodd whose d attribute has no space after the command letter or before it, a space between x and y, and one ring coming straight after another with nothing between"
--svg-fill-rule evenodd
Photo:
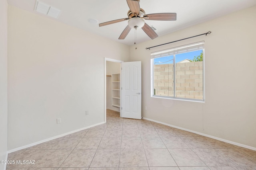
<instances>
[{"instance_id":1,"label":"ceiling fan with five wooden blades and white globe light","mask_svg":"<svg viewBox=\"0 0 256 170\"><path fill-rule=\"evenodd\" d=\"M124 39L132 28L142 28L143 31L151 39L155 39L156 37L158 37L158 35L148 24L145 23L145 20L176 21L176 13L145 14L145 11L140 8L140 0L126 0L126 2L130 8L127 14L128 18L122 18L99 24L99 26L102 27L112 23L128 20L128 25L118 39Z\"/></svg>"}]
</instances>

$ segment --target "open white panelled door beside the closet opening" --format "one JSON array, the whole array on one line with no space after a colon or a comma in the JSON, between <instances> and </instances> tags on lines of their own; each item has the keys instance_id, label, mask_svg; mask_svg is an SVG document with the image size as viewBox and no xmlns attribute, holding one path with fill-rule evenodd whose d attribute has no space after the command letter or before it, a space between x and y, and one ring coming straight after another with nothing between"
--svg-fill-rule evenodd
<instances>
[{"instance_id":1,"label":"open white panelled door beside the closet opening","mask_svg":"<svg viewBox=\"0 0 256 170\"><path fill-rule=\"evenodd\" d=\"M121 64L120 116L141 119L141 61Z\"/></svg>"}]
</instances>

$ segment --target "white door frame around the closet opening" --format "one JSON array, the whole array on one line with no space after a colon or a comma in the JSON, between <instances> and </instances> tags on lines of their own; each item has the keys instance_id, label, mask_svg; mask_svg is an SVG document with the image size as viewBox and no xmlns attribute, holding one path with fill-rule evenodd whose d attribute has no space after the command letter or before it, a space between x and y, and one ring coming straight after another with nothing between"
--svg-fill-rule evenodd
<instances>
[{"instance_id":1,"label":"white door frame around the closet opening","mask_svg":"<svg viewBox=\"0 0 256 170\"><path fill-rule=\"evenodd\" d=\"M104 57L104 122L106 123L106 119L107 119L107 92L106 92L106 84L107 84L107 79L106 79L106 75L107 75L107 71L106 71L106 61L111 61L111 62L115 62L115 63L123 63L124 61L121 60L116 60L116 59L110 59L110 58L106 58ZM121 66L120 66L120 77L121 77ZM120 94L121 95L121 94ZM120 97L120 104L121 104L121 97ZM120 114L121 114L121 106L120 106Z\"/></svg>"}]
</instances>

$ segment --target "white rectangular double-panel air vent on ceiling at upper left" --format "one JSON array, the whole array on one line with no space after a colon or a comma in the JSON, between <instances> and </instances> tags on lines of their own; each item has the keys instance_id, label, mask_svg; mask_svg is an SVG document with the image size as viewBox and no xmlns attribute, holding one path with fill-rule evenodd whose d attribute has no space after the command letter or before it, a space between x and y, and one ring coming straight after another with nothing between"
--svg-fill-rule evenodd
<instances>
[{"instance_id":1,"label":"white rectangular double-panel air vent on ceiling at upper left","mask_svg":"<svg viewBox=\"0 0 256 170\"><path fill-rule=\"evenodd\" d=\"M36 1L35 11L53 18L58 18L60 14L59 9L40 1Z\"/></svg>"}]
</instances>

